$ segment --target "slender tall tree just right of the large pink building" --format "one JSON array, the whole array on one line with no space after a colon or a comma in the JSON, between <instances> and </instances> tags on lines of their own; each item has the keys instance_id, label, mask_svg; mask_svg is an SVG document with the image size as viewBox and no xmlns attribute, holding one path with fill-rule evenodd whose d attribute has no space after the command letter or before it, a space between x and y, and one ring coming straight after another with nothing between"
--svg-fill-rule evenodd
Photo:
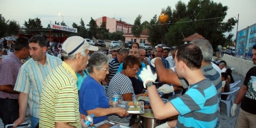
<instances>
[{"instance_id":1,"label":"slender tall tree just right of the large pink building","mask_svg":"<svg viewBox=\"0 0 256 128\"><path fill-rule=\"evenodd\" d=\"M143 30L143 27L141 26L140 23L141 18L141 15L137 16L137 18L134 20L134 25L132 27L133 36L135 36L136 38L140 37L140 34L142 33Z\"/></svg>"}]
</instances>

